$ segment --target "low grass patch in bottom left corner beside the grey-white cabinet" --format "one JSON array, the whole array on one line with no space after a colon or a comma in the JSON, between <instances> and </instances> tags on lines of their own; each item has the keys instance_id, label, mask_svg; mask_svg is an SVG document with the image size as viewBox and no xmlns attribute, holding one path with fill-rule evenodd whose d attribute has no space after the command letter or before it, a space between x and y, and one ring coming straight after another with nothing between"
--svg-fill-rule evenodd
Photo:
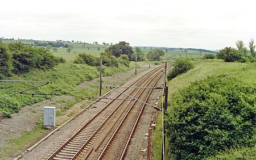
<instances>
[{"instance_id":1,"label":"low grass patch in bottom left corner beside the grey-white cabinet","mask_svg":"<svg viewBox=\"0 0 256 160\"><path fill-rule=\"evenodd\" d=\"M14 155L19 150L24 150L28 148L29 144L35 144L44 134L46 134L46 129L43 128L43 119L39 120L37 126L28 132L23 132L21 137L14 137L12 140L7 142L5 148L0 151L3 154L0 155L0 159L6 159L15 157Z\"/></svg>"}]
</instances>

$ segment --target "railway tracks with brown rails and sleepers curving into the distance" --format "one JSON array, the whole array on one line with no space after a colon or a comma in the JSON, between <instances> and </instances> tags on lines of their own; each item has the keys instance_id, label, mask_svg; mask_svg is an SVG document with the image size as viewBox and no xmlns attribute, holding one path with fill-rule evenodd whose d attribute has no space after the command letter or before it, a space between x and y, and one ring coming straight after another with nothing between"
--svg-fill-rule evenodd
<instances>
[{"instance_id":1,"label":"railway tracks with brown rails and sleepers curving into the distance","mask_svg":"<svg viewBox=\"0 0 256 160\"><path fill-rule=\"evenodd\" d=\"M147 101L152 89L148 90L143 89L142 87L155 87L156 83L163 75L163 72L161 71L163 69L164 66L160 66L160 68L150 71L150 73L144 75L130 85L141 86L141 88L127 87L126 89L119 91L125 94L120 93L115 96L114 99L119 100L110 100L110 102L108 102L86 124L77 129L76 133L68 138L68 140L57 148L47 159L101 159L104 156L107 156L107 150L111 148L110 146L113 143L113 138L118 135L121 126L123 128L127 121L131 122L135 120L135 123L131 123L133 126L133 129L131 129L133 131L129 133L129 137L131 138L138 123L136 123L136 121L139 120L145 104L141 105L142 107L134 107L138 106L138 103L142 103L131 99L130 96L141 99L146 92L147 98L142 99ZM134 110L134 108L136 110ZM128 123L126 125L131 124ZM129 139L125 140L125 150L127 150L127 146L129 145ZM125 150L123 151L122 157L125 155Z\"/></svg>"}]
</instances>

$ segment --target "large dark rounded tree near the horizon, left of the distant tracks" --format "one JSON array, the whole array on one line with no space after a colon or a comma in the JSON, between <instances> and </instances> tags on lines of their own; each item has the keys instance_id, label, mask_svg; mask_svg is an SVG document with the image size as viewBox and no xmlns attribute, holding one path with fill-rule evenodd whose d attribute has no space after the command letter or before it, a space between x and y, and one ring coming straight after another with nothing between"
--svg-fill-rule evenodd
<instances>
[{"instance_id":1,"label":"large dark rounded tree near the horizon, left of the distant tracks","mask_svg":"<svg viewBox=\"0 0 256 160\"><path fill-rule=\"evenodd\" d=\"M131 54L133 54L133 48L130 47L129 43L126 41L119 41L118 44L114 44L106 49L106 52L112 52L115 57L119 57L121 54L126 54L129 58L131 58Z\"/></svg>"}]
</instances>

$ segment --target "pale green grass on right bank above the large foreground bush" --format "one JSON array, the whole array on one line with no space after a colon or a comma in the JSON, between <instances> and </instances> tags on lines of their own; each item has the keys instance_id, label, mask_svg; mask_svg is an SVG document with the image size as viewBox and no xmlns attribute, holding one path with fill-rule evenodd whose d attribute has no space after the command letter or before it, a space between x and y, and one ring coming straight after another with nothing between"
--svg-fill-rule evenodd
<instances>
[{"instance_id":1,"label":"pale green grass on right bank above the large foreground bush","mask_svg":"<svg viewBox=\"0 0 256 160\"><path fill-rule=\"evenodd\" d=\"M179 89L186 87L190 82L194 82L199 79L204 79L208 75L220 75L227 74L229 77L236 77L241 79L244 83L256 83L256 65L255 64L241 64L238 62L228 63L222 62L221 60L196 60L195 68L189 70L187 73L181 74L178 77L167 82L169 87L168 99L172 97L174 92ZM160 118L158 119L158 121ZM160 151L162 148L162 138L158 135L162 135L158 132L162 131L162 125L156 125L156 133L154 137L154 155L161 155ZM158 156L154 159L159 159ZM168 158L167 158L168 159Z\"/></svg>"}]
</instances>

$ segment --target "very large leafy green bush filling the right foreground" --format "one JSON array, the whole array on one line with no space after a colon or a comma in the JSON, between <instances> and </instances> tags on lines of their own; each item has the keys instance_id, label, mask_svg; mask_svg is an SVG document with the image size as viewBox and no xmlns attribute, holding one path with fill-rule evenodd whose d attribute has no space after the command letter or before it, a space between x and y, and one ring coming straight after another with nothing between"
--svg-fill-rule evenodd
<instances>
[{"instance_id":1,"label":"very large leafy green bush filling the right foreground","mask_svg":"<svg viewBox=\"0 0 256 160\"><path fill-rule=\"evenodd\" d=\"M166 121L174 159L206 159L218 151L254 146L256 86L211 76L176 92Z\"/></svg>"}]
</instances>

